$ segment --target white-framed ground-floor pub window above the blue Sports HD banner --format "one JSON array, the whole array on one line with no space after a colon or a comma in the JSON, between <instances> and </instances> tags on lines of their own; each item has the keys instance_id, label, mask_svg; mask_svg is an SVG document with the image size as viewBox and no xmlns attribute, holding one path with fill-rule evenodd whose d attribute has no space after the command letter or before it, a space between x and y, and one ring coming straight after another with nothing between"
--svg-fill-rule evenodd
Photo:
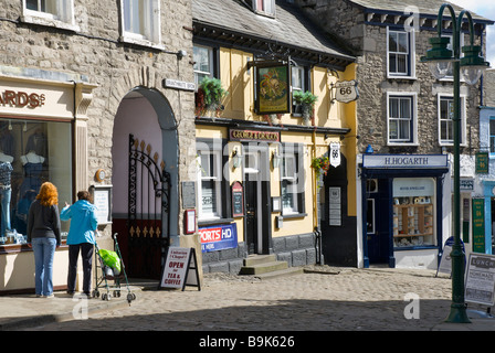
<instances>
[{"instance_id":1,"label":"white-framed ground-floor pub window above the blue Sports HD banner","mask_svg":"<svg viewBox=\"0 0 495 353\"><path fill-rule=\"evenodd\" d=\"M222 214L221 151L198 151L198 220L215 220Z\"/></svg>"}]
</instances>

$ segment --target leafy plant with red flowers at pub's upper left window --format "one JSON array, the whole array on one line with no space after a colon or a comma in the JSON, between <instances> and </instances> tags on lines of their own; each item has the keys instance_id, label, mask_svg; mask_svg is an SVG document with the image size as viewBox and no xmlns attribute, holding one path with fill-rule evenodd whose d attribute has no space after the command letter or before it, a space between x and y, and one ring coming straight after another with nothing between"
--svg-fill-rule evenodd
<instances>
[{"instance_id":1,"label":"leafy plant with red flowers at pub's upper left window","mask_svg":"<svg viewBox=\"0 0 495 353\"><path fill-rule=\"evenodd\" d=\"M204 77L196 94L196 115L201 116L208 113L211 117L219 117L224 109L222 99L228 95L223 89L220 79L214 77Z\"/></svg>"}]
</instances>

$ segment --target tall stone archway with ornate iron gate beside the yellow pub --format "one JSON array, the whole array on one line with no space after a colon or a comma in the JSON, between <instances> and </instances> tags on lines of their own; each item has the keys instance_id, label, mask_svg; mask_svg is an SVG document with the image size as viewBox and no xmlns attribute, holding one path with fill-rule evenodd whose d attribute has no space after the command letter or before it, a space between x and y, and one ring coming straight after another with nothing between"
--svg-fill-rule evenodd
<instances>
[{"instance_id":1,"label":"tall stone archway with ornate iron gate beside the yellow pub","mask_svg":"<svg viewBox=\"0 0 495 353\"><path fill-rule=\"evenodd\" d=\"M173 111L168 100L156 89L136 87L127 93L122 99L114 121L113 145L112 145L112 160L113 160L113 233L118 233L118 242L123 253L124 261L144 261L149 258L149 263L134 266L126 264L129 277L148 277L158 278L161 270L161 261L164 252L160 257L160 245L157 242L151 242L149 247L131 248L129 243L130 236L134 234L134 228L128 229L129 213L128 213L128 190L129 190L129 135L133 135L139 143L146 146L149 154L156 154L158 164L164 161L165 170L170 174L170 192L167 195L171 201L167 212L168 217L164 217L160 212L150 211L148 207L146 215L139 217L145 221L158 221L160 229L154 228L151 234L149 225L143 225L138 229L137 236L157 238L169 236L171 243L178 244L176 239L179 233L179 204L178 204L178 136L176 128L176 119ZM139 182L138 176L138 182ZM145 180L145 178L143 178ZM143 182L144 188L149 188L151 183ZM152 192L149 193L152 195ZM151 199L149 196L148 199ZM158 201L159 202L159 201ZM145 202L149 203L149 200ZM156 223L156 222L155 222ZM164 229L169 229L170 234L164 234ZM143 231L145 233L143 233ZM129 234L130 232L130 234ZM176 242L175 242L176 240ZM140 244L140 243L139 243ZM141 246L141 244L139 245ZM158 248L158 249L157 249ZM139 256L136 257L138 252ZM158 253L157 253L158 252ZM141 254L143 253L143 254ZM154 254L151 256L151 254ZM158 255L157 255L158 254ZM158 256L158 258L156 258ZM155 259L152 259L155 258ZM133 268L136 268L133 272ZM138 269L141 271L138 271ZM146 270L143 272L143 268Z\"/></svg>"}]
</instances>

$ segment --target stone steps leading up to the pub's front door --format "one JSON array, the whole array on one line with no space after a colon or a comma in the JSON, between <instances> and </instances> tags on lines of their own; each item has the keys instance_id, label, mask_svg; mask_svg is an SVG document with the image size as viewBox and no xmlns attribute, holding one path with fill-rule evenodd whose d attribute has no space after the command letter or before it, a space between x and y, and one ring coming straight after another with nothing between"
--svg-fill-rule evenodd
<instances>
[{"instance_id":1,"label":"stone steps leading up to the pub's front door","mask_svg":"<svg viewBox=\"0 0 495 353\"><path fill-rule=\"evenodd\" d=\"M275 254L271 255L250 255L244 258L244 266L241 267L240 275L251 275L259 278L273 278L302 274L303 269L289 268L287 261L278 261Z\"/></svg>"}]
</instances>

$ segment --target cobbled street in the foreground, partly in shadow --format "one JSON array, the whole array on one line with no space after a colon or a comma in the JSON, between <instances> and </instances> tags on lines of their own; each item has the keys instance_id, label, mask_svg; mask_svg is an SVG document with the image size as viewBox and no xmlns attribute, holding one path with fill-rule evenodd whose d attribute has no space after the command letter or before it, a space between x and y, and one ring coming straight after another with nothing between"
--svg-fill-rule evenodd
<instances>
[{"instance_id":1,"label":"cobbled street in the foreground, partly in shadow","mask_svg":"<svg viewBox=\"0 0 495 353\"><path fill-rule=\"evenodd\" d=\"M136 296L129 307L31 330L429 331L449 314L451 279L381 268L270 280L206 274L201 291L144 289Z\"/></svg>"}]
</instances>

